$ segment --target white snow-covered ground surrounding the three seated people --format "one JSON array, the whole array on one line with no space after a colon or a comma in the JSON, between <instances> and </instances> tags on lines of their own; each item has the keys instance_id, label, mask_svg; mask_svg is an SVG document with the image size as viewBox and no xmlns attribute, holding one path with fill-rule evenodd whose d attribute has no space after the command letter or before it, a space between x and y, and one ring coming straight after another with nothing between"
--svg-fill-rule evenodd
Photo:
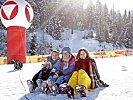
<instances>
[{"instance_id":1,"label":"white snow-covered ground surrounding the three seated people","mask_svg":"<svg viewBox=\"0 0 133 100\"><path fill-rule=\"evenodd\" d=\"M133 100L133 56L95 60L101 79L109 87L91 90L86 98L77 95L75 100ZM24 64L22 70L14 70L13 65L0 65L0 100L27 100L25 94L29 100L71 100L65 94L50 96L28 92L26 80L41 69L41 64Z\"/></svg>"}]
</instances>

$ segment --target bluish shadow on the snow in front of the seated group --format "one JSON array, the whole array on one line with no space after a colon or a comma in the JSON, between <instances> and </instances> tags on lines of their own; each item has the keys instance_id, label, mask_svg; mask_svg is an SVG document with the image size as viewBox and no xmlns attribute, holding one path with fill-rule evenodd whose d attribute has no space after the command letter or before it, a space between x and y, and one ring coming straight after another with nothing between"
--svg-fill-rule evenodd
<instances>
[{"instance_id":1,"label":"bluish shadow on the snow in front of the seated group","mask_svg":"<svg viewBox=\"0 0 133 100\"><path fill-rule=\"evenodd\" d=\"M105 89L105 87L99 87L93 90L88 91L86 97L80 97L78 94L75 94L74 100L95 100L98 97L100 91ZM72 100L68 98L66 94L58 94L57 96L51 96L42 94L40 92L28 93L21 97L19 100Z\"/></svg>"}]
</instances>

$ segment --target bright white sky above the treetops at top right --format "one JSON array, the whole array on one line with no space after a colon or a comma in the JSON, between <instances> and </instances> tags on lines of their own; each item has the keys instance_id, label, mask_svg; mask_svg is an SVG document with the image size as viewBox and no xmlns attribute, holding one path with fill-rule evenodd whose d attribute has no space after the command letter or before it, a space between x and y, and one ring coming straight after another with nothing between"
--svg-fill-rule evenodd
<instances>
[{"instance_id":1,"label":"bright white sky above the treetops at top right","mask_svg":"<svg viewBox=\"0 0 133 100\"><path fill-rule=\"evenodd\" d=\"M93 3L97 0L92 0ZM113 8L113 2L114 2L114 9L120 10L121 12L124 12L126 9L133 10L133 0L100 0L102 4L107 4L108 8Z\"/></svg>"}]
</instances>

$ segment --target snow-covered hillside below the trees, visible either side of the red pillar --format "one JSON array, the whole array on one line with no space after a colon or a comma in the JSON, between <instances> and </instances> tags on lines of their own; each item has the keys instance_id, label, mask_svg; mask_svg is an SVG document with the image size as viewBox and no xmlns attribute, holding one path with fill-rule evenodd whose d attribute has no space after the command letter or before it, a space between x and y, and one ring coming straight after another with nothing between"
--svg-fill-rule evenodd
<instances>
[{"instance_id":1,"label":"snow-covered hillside below the trees, visible either side of the red pillar","mask_svg":"<svg viewBox=\"0 0 133 100\"><path fill-rule=\"evenodd\" d=\"M38 29L36 32L30 33L27 32L27 55L30 50L30 43L31 37L35 34L36 35L36 54L49 54L52 50L57 49L60 50L64 46L69 46L73 53L78 52L78 50L82 47L85 47L90 52L97 52L97 51L112 51L112 50L121 50L126 49L125 47L115 47L112 43L102 42L99 43L95 38L87 38L84 37L88 36L92 31L91 30L72 30L69 28L63 28L64 32L61 33L61 40L54 40L52 36L46 33L44 30ZM5 30L2 30L4 34L6 34ZM93 34L95 32L93 31ZM2 40L5 40L3 38ZM6 55L6 44L4 41L0 47L0 54Z\"/></svg>"}]
</instances>

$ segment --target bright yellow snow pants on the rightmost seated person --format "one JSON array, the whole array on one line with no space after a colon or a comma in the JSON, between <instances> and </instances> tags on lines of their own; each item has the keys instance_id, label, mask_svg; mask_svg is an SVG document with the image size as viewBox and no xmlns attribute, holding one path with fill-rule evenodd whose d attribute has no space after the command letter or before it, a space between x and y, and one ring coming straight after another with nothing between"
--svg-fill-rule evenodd
<instances>
[{"instance_id":1,"label":"bright yellow snow pants on the rightmost seated person","mask_svg":"<svg viewBox=\"0 0 133 100\"><path fill-rule=\"evenodd\" d=\"M83 85L86 87L86 89L90 89L91 79L83 69L80 69L79 71L73 72L71 78L68 81L68 85L70 85L74 90L76 85Z\"/></svg>"}]
</instances>

